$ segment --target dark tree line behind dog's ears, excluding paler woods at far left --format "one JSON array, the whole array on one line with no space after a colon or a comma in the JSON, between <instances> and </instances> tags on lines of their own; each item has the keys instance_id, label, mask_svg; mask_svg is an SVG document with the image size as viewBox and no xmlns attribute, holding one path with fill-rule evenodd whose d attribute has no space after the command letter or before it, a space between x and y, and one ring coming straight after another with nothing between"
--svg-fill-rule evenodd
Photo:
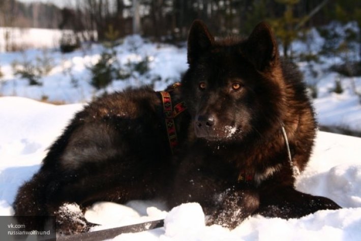
<instances>
[{"instance_id":1,"label":"dark tree line behind dog's ears, excluding paler woods at far left","mask_svg":"<svg viewBox=\"0 0 361 241\"><path fill-rule=\"evenodd\" d=\"M138 8L134 11L133 4ZM202 19L216 35L248 35L260 21L270 22L278 35L326 24L332 20L357 21L361 2L353 0L74 0L63 10L68 27L94 28L105 37L109 25L119 35L132 34L134 15L140 15L140 31L156 40L185 39L194 19ZM318 9L319 8L319 9ZM310 14L316 12L310 16ZM134 14L136 13L136 14Z\"/></svg>"}]
</instances>

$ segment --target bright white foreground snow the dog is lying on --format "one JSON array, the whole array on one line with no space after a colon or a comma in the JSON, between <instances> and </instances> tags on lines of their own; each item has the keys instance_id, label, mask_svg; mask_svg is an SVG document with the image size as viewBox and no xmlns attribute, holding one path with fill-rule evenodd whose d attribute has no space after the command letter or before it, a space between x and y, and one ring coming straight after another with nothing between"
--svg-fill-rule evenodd
<instances>
[{"instance_id":1,"label":"bright white foreground snow the dog is lying on","mask_svg":"<svg viewBox=\"0 0 361 241\"><path fill-rule=\"evenodd\" d=\"M0 216L12 215L18 187L39 169L46 148L82 104L52 105L21 97L0 97ZM98 203L86 212L104 229L165 218L165 227L115 240L359 240L361 237L361 139L319 132L298 190L335 200L343 209L318 211L300 219L255 216L230 231L204 226L196 203L163 211L157 201L131 201L126 206Z\"/></svg>"}]
</instances>

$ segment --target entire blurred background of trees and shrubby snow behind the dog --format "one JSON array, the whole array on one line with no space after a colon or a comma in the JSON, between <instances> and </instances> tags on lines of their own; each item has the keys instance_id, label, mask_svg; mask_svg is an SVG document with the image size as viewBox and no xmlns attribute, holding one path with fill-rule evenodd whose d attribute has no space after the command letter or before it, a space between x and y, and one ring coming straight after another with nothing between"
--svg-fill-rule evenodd
<instances>
[{"instance_id":1,"label":"entire blurred background of trees and shrubby snow behind the dog","mask_svg":"<svg viewBox=\"0 0 361 241\"><path fill-rule=\"evenodd\" d=\"M202 19L216 37L248 36L258 22L265 20L278 38L281 54L304 74L315 101L326 101L329 110L343 98L345 104L341 101L344 105L336 106L335 113L346 111L346 105L353 108L349 113L356 113L354 109L360 106L359 1L68 2L72 4L59 8L52 4L0 1L0 47L6 45L0 48L5 49L0 55L0 96L70 103L133 85L164 87L179 79L187 68L186 39L194 19ZM17 35L19 28L23 37ZM55 32L57 44L37 49L43 48L35 46L41 46L42 40L51 42L54 33L50 32ZM134 33L137 35L129 36ZM29 43L16 42L17 39ZM69 52L73 53L64 54ZM333 98L334 104L328 105L327 98ZM322 113L323 109L318 109ZM338 115L342 118L337 123L328 123L338 120L336 117L320 122L356 130L361 136L359 128L352 127L353 120L344 124L345 115Z\"/></svg>"}]
</instances>

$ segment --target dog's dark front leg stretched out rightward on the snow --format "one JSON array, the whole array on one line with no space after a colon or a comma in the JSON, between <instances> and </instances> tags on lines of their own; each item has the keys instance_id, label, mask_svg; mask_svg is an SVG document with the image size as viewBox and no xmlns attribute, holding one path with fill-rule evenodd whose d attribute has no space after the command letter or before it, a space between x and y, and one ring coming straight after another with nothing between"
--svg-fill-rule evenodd
<instances>
[{"instance_id":1,"label":"dog's dark front leg stretched out rightward on the snow","mask_svg":"<svg viewBox=\"0 0 361 241\"><path fill-rule=\"evenodd\" d=\"M300 218L318 210L341 208L328 198L301 193L292 186L278 186L260 194L257 213L266 217Z\"/></svg>"}]
</instances>

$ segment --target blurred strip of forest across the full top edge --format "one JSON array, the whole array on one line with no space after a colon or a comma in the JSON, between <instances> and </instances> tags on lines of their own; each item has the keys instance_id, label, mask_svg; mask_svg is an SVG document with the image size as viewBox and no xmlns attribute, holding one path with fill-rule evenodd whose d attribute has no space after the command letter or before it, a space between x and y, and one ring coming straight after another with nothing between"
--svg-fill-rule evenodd
<instances>
[{"instance_id":1,"label":"blurred strip of forest across the full top edge","mask_svg":"<svg viewBox=\"0 0 361 241\"><path fill-rule=\"evenodd\" d=\"M100 40L113 28L119 37L134 31L156 41L183 41L194 19L218 36L247 36L260 21L272 24L284 45L300 31L330 21L361 25L361 2L354 0L70 0L53 4L0 2L0 26L96 30ZM135 21L134 21L134 18ZM138 26L134 28L134 22ZM287 47L287 46L286 46ZM287 49L285 49L287 50Z\"/></svg>"}]
</instances>

